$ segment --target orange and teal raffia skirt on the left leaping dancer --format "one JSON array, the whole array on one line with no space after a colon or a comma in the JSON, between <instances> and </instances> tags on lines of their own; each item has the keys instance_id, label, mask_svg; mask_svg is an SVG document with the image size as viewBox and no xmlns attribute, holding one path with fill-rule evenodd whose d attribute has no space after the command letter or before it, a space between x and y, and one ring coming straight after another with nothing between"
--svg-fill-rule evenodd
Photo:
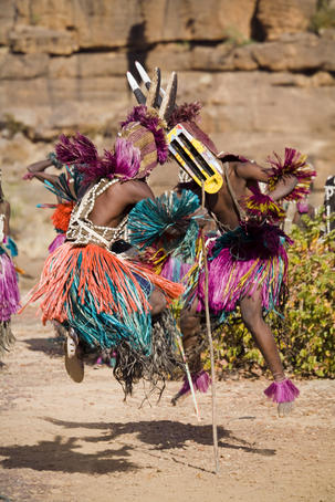
<instances>
[{"instance_id":1,"label":"orange and teal raffia skirt on the left leaping dancer","mask_svg":"<svg viewBox=\"0 0 335 502\"><path fill-rule=\"evenodd\" d=\"M165 294L167 304L184 291L181 284L100 245L66 242L46 259L28 304L40 300L43 323L59 321L73 327L91 346L117 348L126 339L149 354L154 287Z\"/></svg>"}]
</instances>

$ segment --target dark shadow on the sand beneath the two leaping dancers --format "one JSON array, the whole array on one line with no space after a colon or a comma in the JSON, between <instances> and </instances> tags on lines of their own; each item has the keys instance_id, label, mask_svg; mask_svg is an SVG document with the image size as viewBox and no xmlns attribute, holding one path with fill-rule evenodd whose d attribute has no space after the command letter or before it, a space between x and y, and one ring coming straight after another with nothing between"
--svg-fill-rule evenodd
<instances>
[{"instance_id":1,"label":"dark shadow on the sand beneath the two leaping dancers","mask_svg":"<svg viewBox=\"0 0 335 502\"><path fill-rule=\"evenodd\" d=\"M212 428L210 425L191 425L172 420L132 421L132 422L73 422L54 418L44 418L45 421L63 429L88 429L100 431L100 435L64 438L55 436L52 441L40 441L38 445L8 446L0 448L0 456L6 457L1 464L4 469L29 468L38 471L80 472L103 474L117 471L134 471L140 469L128 458L133 451L143 452L151 457L159 457L168 450L187 450L188 441L196 445L212 445ZM101 435L103 431L103 436ZM136 436L136 443L134 437ZM123 439L123 436L127 436ZM223 427L218 427L220 449L237 449L245 453L271 457L275 450L260 449L243 439L234 437ZM109 448L96 453L82 453L83 442L108 443ZM148 448L149 447L149 448ZM205 470L176 458L174 451L171 461Z\"/></svg>"}]
</instances>

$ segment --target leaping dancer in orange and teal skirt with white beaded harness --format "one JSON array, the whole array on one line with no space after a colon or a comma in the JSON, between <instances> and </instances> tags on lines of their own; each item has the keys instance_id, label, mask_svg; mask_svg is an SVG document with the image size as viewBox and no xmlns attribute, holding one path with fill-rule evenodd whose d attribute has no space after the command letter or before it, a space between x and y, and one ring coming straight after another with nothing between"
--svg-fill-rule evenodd
<instances>
[{"instance_id":1,"label":"leaping dancer in orange and teal skirt with white beaded harness","mask_svg":"<svg viewBox=\"0 0 335 502\"><path fill-rule=\"evenodd\" d=\"M159 80L157 71L146 106L135 107L122 124L112 150L98 155L80 134L61 137L56 157L82 175L86 192L72 211L66 241L48 258L30 297L41 300L44 323L55 320L69 330L70 376L83 379L86 352L107 352L126 394L140 378L155 386L178 364L175 342L163 323L172 322L167 306L184 287L127 254L125 234L129 210L154 198L146 178L168 156L165 127L177 76L171 75L156 111Z\"/></svg>"}]
</instances>

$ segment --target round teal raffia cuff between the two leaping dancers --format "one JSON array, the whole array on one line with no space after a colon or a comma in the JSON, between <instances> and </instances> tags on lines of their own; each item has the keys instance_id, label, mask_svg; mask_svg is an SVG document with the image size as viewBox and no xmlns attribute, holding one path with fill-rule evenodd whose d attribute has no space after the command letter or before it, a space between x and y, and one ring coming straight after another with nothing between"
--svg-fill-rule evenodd
<instances>
[{"instance_id":1,"label":"round teal raffia cuff between the two leaping dancers","mask_svg":"<svg viewBox=\"0 0 335 502\"><path fill-rule=\"evenodd\" d=\"M164 240L163 247L174 255L195 257L195 241L199 232L197 216L190 217L199 208L199 198L190 190L184 190L179 197L169 191L138 202L128 217L130 243L144 251L157 240ZM165 232L181 219L189 218L186 233L176 239L166 239Z\"/></svg>"}]
</instances>

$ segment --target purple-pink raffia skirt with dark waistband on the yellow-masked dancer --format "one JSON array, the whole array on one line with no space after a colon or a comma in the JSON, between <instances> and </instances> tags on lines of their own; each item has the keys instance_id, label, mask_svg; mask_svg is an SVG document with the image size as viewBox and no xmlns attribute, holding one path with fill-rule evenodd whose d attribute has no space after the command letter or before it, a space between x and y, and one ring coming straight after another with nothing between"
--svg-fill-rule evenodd
<instances>
[{"instance_id":1,"label":"purple-pink raffia skirt with dark waistband on the yellow-masked dancer","mask_svg":"<svg viewBox=\"0 0 335 502\"><path fill-rule=\"evenodd\" d=\"M261 292L266 312L275 310L287 282L285 243L292 241L278 227L237 229L210 244L208 255L209 307L214 314L233 312L239 301ZM200 274L199 310L205 306L205 273Z\"/></svg>"}]
</instances>

